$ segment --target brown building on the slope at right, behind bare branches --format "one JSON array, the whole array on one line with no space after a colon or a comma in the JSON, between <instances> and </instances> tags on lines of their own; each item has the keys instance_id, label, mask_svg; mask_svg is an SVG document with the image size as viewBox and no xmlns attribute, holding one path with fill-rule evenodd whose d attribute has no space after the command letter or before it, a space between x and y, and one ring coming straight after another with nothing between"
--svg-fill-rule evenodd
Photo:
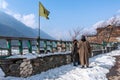
<instances>
[{"instance_id":1,"label":"brown building on the slope at right, behind bare branches","mask_svg":"<svg viewBox=\"0 0 120 80\"><path fill-rule=\"evenodd\" d=\"M120 42L120 26L111 26L97 28L95 35L88 36L88 40L92 43Z\"/></svg>"}]
</instances>

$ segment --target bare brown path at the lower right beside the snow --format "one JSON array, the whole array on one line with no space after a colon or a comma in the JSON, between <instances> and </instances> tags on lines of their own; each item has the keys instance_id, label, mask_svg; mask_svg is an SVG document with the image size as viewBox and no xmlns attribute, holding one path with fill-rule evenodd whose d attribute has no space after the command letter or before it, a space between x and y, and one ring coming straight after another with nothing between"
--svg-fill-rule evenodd
<instances>
[{"instance_id":1,"label":"bare brown path at the lower right beside the snow","mask_svg":"<svg viewBox=\"0 0 120 80\"><path fill-rule=\"evenodd\" d=\"M120 80L120 56L115 56L116 63L107 74L108 80Z\"/></svg>"}]
</instances>

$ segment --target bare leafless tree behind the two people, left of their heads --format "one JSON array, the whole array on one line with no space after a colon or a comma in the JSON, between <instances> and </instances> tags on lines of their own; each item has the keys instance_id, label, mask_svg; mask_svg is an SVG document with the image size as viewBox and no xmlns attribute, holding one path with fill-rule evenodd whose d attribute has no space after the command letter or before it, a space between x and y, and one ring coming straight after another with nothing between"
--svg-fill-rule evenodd
<instances>
[{"instance_id":1,"label":"bare leafless tree behind the two people, left of their heads","mask_svg":"<svg viewBox=\"0 0 120 80\"><path fill-rule=\"evenodd\" d=\"M77 39L84 28L83 27L77 27L71 30L69 30L69 35L71 37L71 40Z\"/></svg>"}]
</instances>

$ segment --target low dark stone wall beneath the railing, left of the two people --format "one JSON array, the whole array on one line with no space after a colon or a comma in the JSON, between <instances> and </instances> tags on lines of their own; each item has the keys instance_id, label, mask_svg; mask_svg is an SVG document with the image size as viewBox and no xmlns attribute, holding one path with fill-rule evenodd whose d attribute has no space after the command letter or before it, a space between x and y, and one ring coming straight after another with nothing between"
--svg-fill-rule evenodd
<instances>
[{"instance_id":1,"label":"low dark stone wall beneath the railing, left of the two people","mask_svg":"<svg viewBox=\"0 0 120 80\"><path fill-rule=\"evenodd\" d=\"M69 63L70 54L55 54L36 59L0 59L0 67L6 76L16 77L28 77Z\"/></svg>"}]
</instances>

